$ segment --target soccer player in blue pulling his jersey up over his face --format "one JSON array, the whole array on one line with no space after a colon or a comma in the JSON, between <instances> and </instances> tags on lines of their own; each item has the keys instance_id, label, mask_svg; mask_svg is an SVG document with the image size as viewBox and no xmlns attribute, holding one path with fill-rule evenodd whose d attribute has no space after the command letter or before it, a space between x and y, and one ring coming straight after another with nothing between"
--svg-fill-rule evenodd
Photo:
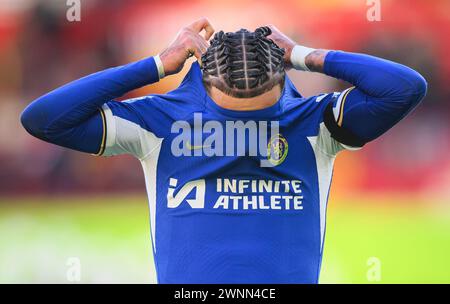
<instances>
[{"instance_id":1,"label":"soccer player in blue pulling his jersey up over his face","mask_svg":"<svg viewBox=\"0 0 450 304\"><path fill-rule=\"evenodd\" d=\"M221 31L209 45L213 33L202 18L159 55L38 98L22 124L53 144L141 162L160 283L316 283L336 155L398 123L427 84L398 63L297 45L274 26ZM199 63L177 89L114 100L191 55ZM291 67L353 87L303 97Z\"/></svg>"}]
</instances>

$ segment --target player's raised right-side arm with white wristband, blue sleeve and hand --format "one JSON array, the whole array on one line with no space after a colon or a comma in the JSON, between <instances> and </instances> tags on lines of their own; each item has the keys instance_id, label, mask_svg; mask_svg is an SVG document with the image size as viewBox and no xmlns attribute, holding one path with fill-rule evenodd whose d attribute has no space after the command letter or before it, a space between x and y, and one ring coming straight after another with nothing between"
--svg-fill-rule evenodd
<instances>
[{"instance_id":1,"label":"player's raised right-side arm with white wristband, blue sleeve and hand","mask_svg":"<svg viewBox=\"0 0 450 304\"><path fill-rule=\"evenodd\" d=\"M355 86L342 92L324 116L331 135L344 144L362 146L382 135L426 94L425 79L409 67L364 54L303 47L270 27L270 38L286 49L288 67L321 72Z\"/></svg>"}]
</instances>

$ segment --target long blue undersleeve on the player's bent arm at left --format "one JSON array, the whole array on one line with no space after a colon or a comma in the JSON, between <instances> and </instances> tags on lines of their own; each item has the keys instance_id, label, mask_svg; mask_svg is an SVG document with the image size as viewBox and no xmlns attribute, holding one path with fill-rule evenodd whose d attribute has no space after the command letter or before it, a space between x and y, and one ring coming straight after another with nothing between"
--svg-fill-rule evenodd
<instances>
[{"instance_id":1,"label":"long blue undersleeve on the player's bent arm at left","mask_svg":"<svg viewBox=\"0 0 450 304\"><path fill-rule=\"evenodd\" d=\"M77 151L101 154L106 136L102 105L158 80L153 57L110 68L39 97L22 112L21 122L37 138Z\"/></svg>"}]
</instances>

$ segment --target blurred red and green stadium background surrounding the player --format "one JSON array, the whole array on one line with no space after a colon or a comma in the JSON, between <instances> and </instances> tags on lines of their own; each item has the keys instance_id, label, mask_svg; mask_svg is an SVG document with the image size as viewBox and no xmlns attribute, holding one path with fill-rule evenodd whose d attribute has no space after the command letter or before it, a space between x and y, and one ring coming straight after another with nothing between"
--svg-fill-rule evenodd
<instances>
[{"instance_id":1,"label":"blurred red and green stadium background surrounding the player","mask_svg":"<svg viewBox=\"0 0 450 304\"><path fill-rule=\"evenodd\" d=\"M78 1L68 1L68 3ZM0 282L154 282L140 164L29 136L24 107L66 82L155 55L201 16L217 30L275 24L298 43L366 52L417 69L423 104L382 138L337 159L322 283L450 283L450 1L0 0ZM187 64L185 67L189 67ZM166 92L179 75L124 98ZM290 72L305 95L349 85ZM374 271L376 275L374 276Z\"/></svg>"}]
</instances>

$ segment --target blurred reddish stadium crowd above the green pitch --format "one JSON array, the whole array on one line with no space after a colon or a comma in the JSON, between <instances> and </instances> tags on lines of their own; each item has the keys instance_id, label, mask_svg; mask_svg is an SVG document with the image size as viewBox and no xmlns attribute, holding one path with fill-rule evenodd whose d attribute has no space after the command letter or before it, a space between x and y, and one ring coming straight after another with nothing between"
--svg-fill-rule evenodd
<instances>
[{"instance_id":1,"label":"blurred reddish stadium crowd above the green pitch","mask_svg":"<svg viewBox=\"0 0 450 304\"><path fill-rule=\"evenodd\" d=\"M303 45L366 52L420 71L429 83L424 103L363 151L344 152L333 192L450 198L449 1L383 0L380 22L367 20L362 0L81 3L81 21L69 22L66 1L0 1L0 196L143 192L140 165L131 157L96 158L46 144L26 134L19 116L33 99L68 81L156 54L201 14L217 30L273 23ZM124 98L166 92L186 68ZM290 77L303 95L348 86L319 74Z\"/></svg>"}]
</instances>

